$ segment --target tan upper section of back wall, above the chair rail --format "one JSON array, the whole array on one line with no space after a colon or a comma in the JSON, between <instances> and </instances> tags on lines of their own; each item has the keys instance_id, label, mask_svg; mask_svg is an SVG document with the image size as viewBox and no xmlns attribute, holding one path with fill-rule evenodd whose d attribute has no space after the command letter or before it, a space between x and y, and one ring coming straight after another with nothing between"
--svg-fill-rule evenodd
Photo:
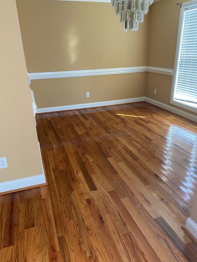
<instances>
[{"instance_id":1,"label":"tan upper section of back wall, above the chair rail","mask_svg":"<svg viewBox=\"0 0 197 262\"><path fill-rule=\"evenodd\" d=\"M124 32L110 3L17 0L27 70L144 66L148 18Z\"/></svg>"}]
</instances>

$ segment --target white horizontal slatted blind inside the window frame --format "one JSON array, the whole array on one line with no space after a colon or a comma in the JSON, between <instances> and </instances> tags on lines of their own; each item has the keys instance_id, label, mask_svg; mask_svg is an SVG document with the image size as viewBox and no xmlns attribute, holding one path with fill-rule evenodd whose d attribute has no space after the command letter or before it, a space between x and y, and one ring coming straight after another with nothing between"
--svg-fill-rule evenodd
<instances>
[{"instance_id":1,"label":"white horizontal slatted blind inside the window frame","mask_svg":"<svg viewBox=\"0 0 197 262\"><path fill-rule=\"evenodd\" d=\"M197 107L197 7L184 12L174 100Z\"/></svg>"}]
</instances>

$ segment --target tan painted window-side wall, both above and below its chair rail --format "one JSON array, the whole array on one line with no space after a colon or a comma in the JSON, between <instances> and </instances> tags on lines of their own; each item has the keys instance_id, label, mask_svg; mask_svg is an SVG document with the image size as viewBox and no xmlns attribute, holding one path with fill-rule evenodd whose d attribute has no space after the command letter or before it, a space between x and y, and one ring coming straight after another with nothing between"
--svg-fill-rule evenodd
<instances>
[{"instance_id":1,"label":"tan painted window-side wall, both above and below its chair rail","mask_svg":"<svg viewBox=\"0 0 197 262\"><path fill-rule=\"evenodd\" d=\"M180 6L177 6L177 0L161 0L151 6L148 66L174 68L179 15ZM154 88L157 89L156 95L154 95ZM171 88L172 76L147 73L147 97L197 115L170 104Z\"/></svg>"}]
</instances>

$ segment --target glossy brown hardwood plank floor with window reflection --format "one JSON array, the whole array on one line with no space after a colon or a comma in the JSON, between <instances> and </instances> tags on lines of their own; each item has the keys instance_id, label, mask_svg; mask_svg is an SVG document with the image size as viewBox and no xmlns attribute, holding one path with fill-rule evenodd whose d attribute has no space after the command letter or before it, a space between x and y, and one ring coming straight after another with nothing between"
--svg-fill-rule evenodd
<instances>
[{"instance_id":1,"label":"glossy brown hardwood plank floor with window reflection","mask_svg":"<svg viewBox=\"0 0 197 262\"><path fill-rule=\"evenodd\" d=\"M0 261L197 261L197 125L147 103L36 116L48 186L0 196Z\"/></svg>"}]
</instances>

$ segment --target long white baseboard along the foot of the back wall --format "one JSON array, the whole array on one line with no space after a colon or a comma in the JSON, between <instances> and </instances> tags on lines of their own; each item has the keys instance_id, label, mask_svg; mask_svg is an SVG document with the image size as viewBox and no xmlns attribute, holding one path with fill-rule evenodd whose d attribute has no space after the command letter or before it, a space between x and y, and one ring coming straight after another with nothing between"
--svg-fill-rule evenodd
<instances>
[{"instance_id":1,"label":"long white baseboard along the foot of the back wall","mask_svg":"<svg viewBox=\"0 0 197 262\"><path fill-rule=\"evenodd\" d=\"M94 108L94 107L102 107L102 106L110 106L110 105L118 105L118 104L129 104L129 103L143 102L143 101L144 101L144 96L136 97L136 98L128 98L128 99L95 102L95 103L76 104L76 105L49 107L49 108L37 108L36 114L47 113L47 112L56 112L56 111L65 111L65 110L74 110L74 109L82 109L82 108Z\"/></svg>"}]
</instances>

